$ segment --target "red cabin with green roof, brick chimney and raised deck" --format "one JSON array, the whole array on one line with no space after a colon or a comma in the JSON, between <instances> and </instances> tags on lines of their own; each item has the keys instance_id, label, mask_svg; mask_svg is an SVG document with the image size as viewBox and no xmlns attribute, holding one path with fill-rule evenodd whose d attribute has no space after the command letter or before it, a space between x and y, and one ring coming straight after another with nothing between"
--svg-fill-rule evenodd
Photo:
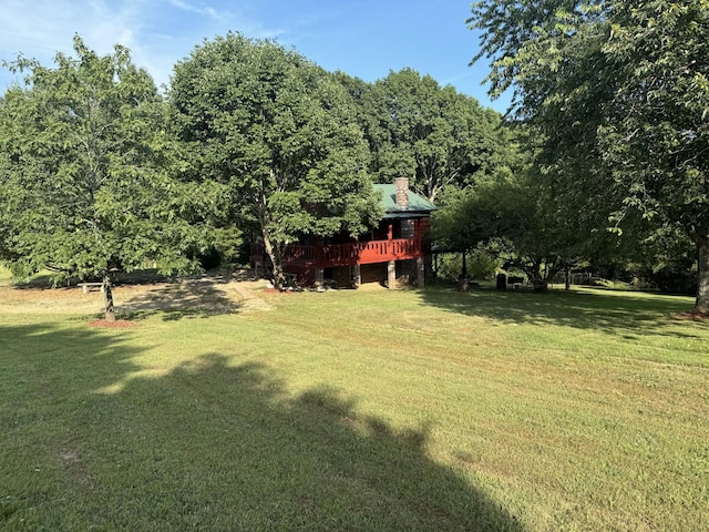
<instances>
[{"instance_id":1,"label":"red cabin with green roof, brick chimney and raised deck","mask_svg":"<svg viewBox=\"0 0 709 532\"><path fill-rule=\"evenodd\" d=\"M424 235L435 206L409 190L408 177L374 185L374 190L381 191L384 211L377 227L358 238L304 236L287 246L284 272L301 286L335 284L357 288L362 283L380 283L394 288L398 279L415 279L422 287L428 252ZM263 244L254 243L251 267L260 268L267 259Z\"/></svg>"}]
</instances>

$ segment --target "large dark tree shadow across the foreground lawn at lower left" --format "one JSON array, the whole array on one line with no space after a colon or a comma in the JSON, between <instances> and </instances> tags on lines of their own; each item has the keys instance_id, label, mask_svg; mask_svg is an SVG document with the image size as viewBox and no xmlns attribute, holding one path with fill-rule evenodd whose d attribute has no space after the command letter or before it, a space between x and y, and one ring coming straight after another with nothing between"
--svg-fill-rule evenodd
<instances>
[{"instance_id":1,"label":"large dark tree shadow across the foreground lawn at lower left","mask_svg":"<svg viewBox=\"0 0 709 532\"><path fill-rule=\"evenodd\" d=\"M427 456L425 427L395 430L329 388L294 397L265 366L218 354L143 376L102 335L54 336L101 355L64 354L61 401L14 398L35 418L16 423L3 458L34 449L0 479L0 529L523 530Z\"/></svg>"}]
</instances>

